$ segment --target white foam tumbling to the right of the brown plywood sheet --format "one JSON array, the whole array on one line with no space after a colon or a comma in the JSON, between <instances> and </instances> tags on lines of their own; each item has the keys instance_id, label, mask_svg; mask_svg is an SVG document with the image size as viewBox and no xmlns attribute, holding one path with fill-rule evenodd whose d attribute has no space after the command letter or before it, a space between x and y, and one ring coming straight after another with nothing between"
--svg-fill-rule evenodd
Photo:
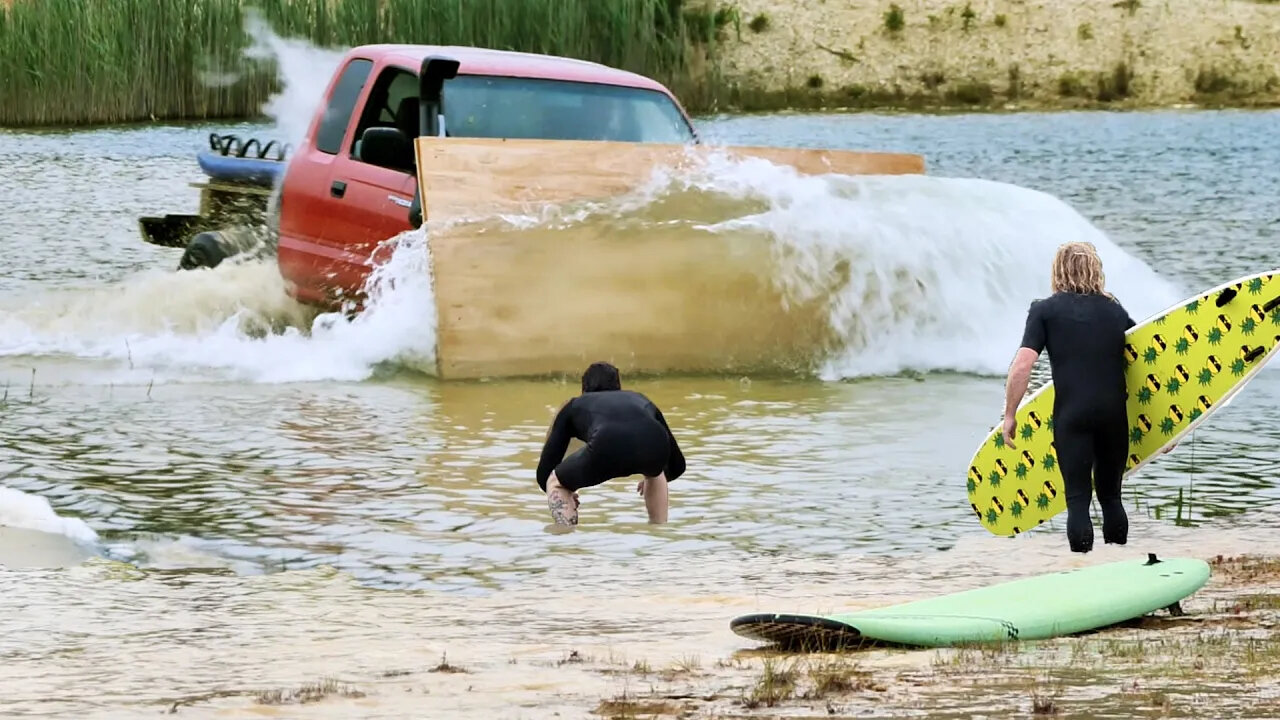
<instances>
[{"instance_id":1,"label":"white foam tumbling to the right of the brown plywood sheet","mask_svg":"<svg viewBox=\"0 0 1280 720\"><path fill-rule=\"evenodd\" d=\"M1062 242L1097 246L1108 288L1135 320L1183 296L1043 192L927 176L803 177L756 163L741 172L758 177L769 209L737 223L777 240L778 282L799 297L840 287L831 323L846 345L826 378L1004 373L1029 302L1050 293Z\"/></svg>"}]
</instances>

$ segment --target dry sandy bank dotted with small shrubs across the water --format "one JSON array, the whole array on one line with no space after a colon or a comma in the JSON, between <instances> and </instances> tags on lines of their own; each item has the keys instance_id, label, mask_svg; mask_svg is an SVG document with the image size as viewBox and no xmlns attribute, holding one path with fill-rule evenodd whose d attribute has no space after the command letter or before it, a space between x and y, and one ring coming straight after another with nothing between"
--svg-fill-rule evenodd
<instances>
[{"instance_id":1,"label":"dry sandy bank dotted with small shrubs across the water","mask_svg":"<svg viewBox=\"0 0 1280 720\"><path fill-rule=\"evenodd\" d=\"M1280 104L1274 0L736 0L735 106Z\"/></svg>"}]
</instances>

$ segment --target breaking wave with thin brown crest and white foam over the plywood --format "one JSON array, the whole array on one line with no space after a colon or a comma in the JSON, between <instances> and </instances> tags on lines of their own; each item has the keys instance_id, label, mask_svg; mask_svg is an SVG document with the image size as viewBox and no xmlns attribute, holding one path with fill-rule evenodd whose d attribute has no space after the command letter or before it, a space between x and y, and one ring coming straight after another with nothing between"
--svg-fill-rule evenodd
<instances>
[{"instance_id":1,"label":"breaking wave with thin brown crest and white foam over the plywood","mask_svg":"<svg viewBox=\"0 0 1280 720\"><path fill-rule=\"evenodd\" d=\"M1187 293L1043 192L928 176L803 176L763 159L712 155L657 172L609 202L499 215L508 228L590 224L595 233L680 232L769 246L785 304L823 300L840 347L819 375L904 370L1002 373L1027 307L1050 293L1057 246L1092 242L1108 288L1140 322Z\"/></svg>"}]
</instances>

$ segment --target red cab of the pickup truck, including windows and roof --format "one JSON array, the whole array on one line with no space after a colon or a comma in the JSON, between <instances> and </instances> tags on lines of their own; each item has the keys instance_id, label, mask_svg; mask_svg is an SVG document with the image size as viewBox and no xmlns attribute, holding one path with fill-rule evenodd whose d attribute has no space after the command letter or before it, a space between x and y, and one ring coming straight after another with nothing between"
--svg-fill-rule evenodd
<instances>
[{"instance_id":1,"label":"red cab of the pickup truck, including windows and roof","mask_svg":"<svg viewBox=\"0 0 1280 720\"><path fill-rule=\"evenodd\" d=\"M635 73L477 47L355 47L283 178L276 259L291 296L360 302L379 246L422 222L420 135L698 142L675 95Z\"/></svg>"}]
</instances>

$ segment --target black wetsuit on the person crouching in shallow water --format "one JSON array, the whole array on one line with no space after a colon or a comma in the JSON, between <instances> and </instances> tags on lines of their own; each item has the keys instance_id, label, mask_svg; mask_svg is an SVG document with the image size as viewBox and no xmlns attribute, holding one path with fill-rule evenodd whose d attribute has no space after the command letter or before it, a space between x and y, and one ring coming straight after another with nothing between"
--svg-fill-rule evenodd
<instances>
[{"instance_id":1,"label":"black wetsuit on the person crouching in shallow water","mask_svg":"<svg viewBox=\"0 0 1280 720\"><path fill-rule=\"evenodd\" d=\"M564 457L571 437L586 447ZM561 407L538 462L538 486L544 492L553 469L561 486L572 492L636 474L666 473L675 480L685 471L685 456L648 397L611 389L585 392Z\"/></svg>"}]
</instances>

